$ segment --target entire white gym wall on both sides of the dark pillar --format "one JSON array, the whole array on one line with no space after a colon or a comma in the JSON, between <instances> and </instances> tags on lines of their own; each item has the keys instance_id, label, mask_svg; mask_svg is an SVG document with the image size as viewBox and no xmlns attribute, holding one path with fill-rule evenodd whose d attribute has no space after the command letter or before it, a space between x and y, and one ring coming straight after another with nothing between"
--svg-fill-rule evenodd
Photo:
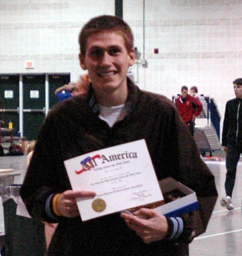
<instances>
[{"instance_id":1,"label":"entire white gym wall on both sides of the dark pillar","mask_svg":"<svg viewBox=\"0 0 242 256\"><path fill-rule=\"evenodd\" d=\"M171 98L182 85L196 85L223 117L232 81L242 77L241 10L242 0L124 0L124 19L148 62L135 66L139 86ZM83 72L79 30L101 14L114 14L114 0L1 0L0 73L70 72L75 81ZM26 60L33 70L24 68Z\"/></svg>"}]
</instances>

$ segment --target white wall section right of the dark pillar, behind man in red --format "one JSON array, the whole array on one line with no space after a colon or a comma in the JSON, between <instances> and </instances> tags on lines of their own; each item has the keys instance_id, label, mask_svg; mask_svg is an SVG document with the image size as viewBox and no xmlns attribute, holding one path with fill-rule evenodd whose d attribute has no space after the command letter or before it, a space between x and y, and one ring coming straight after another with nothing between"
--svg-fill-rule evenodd
<instances>
[{"instance_id":1,"label":"white wall section right of the dark pillar, behind man in red","mask_svg":"<svg viewBox=\"0 0 242 256\"><path fill-rule=\"evenodd\" d=\"M143 2L126 0L124 6L141 52ZM234 98L232 81L242 77L241 10L241 0L146 0L148 68L139 72L140 86L171 98L182 85L196 85L215 99L223 117L225 102Z\"/></svg>"}]
</instances>

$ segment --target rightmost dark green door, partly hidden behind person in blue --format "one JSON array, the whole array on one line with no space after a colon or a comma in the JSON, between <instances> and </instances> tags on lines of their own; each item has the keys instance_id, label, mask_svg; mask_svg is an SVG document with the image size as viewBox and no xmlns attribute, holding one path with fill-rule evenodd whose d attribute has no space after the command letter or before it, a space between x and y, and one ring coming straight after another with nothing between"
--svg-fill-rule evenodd
<instances>
[{"instance_id":1,"label":"rightmost dark green door, partly hidden behind person in blue","mask_svg":"<svg viewBox=\"0 0 242 256\"><path fill-rule=\"evenodd\" d=\"M70 74L49 75L49 107L52 108L57 102L55 90L70 82Z\"/></svg>"}]
</instances>

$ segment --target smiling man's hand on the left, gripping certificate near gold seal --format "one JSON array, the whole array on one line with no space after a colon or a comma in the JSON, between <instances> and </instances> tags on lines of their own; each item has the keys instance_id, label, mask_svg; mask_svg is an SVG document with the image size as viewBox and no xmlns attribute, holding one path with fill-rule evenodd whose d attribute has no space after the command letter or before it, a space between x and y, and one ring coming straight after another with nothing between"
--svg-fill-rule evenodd
<instances>
[{"instance_id":1,"label":"smiling man's hand on the left, gripping certificate near gold seal","mask_svg":"<svg viewBox=\"0 0 242 256\"><path fill-rule=\"evenodd\" d=\"M75 199L78 197L94 197L95 195L96 193L93 191L66 190L58 197L56 207L61 216L74 218L80 215Z\"/></svg>"}]
</instances>

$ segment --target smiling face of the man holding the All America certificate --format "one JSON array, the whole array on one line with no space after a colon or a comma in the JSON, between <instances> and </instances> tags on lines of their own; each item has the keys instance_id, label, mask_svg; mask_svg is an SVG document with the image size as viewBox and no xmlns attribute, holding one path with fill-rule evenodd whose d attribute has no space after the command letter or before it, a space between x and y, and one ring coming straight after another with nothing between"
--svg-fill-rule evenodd
<instances>
[{"instance_id":1,"label":"smiling face of the man holding the All America certificate","mask_svg":"<svg viewBox=\"0 0 242 256\"><path fill-rule=\"evenodd\" d=\"M127 90L127 72L135 61L134 51L128 53L122 35L100 32L87 38L86 54L79 55L82 69L88 70L96 93Z\"/></svg>"}]
</instances>

